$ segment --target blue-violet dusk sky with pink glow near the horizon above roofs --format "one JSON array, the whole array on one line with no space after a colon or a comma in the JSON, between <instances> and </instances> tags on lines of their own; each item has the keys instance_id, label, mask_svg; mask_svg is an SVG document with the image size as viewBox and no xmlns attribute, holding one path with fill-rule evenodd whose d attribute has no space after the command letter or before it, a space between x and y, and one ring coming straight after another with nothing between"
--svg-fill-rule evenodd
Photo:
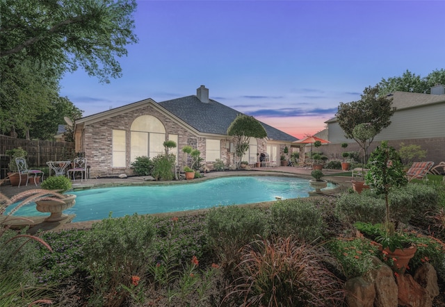
<instances>
[{"instance_id":1,"label":"blue-violet dusk sky with pink glow near the horizon above roofs","mask_svg":"<svg viewBox=\"0 0 445 307\"><path fill-rule=\"evenodd\" d=\"M445 1L138 1L138 44L110 84L79 69L61 96L92 115L196 94L303 138L382 78L445 67Z\"/></svg>"}]
</instances>

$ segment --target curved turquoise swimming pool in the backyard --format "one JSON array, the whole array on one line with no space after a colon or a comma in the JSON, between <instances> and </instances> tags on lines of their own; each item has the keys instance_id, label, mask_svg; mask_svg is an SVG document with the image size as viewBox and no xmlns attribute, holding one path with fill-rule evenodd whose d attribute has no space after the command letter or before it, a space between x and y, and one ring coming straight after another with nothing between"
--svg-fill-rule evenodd
<instances>
[{"instance_id":1,"label":"curved turquoise swimming pool in the backyard","mask_svg":"<svg viewBox=\"0 0 445 307\"><path fill-rule=\"evenodd\" d=\"M326 189L334 187L335 185L328 183ZM314 189L309 186L307 179L297 177L232 176L199 183L97 188L69 192L77 195L76 204L63 213L75 214L73 222L83 222L104 219L110 212L113 213L113 217L123 217L133 213L198 210L218 205L274 201L275 197L282 199L308 197L312 191ZM8 208L8 211L12 209ZM15 215L38 216L48 213L38 212L35 204L31 203L17 210Z\"/></svg>"}]
</instances>

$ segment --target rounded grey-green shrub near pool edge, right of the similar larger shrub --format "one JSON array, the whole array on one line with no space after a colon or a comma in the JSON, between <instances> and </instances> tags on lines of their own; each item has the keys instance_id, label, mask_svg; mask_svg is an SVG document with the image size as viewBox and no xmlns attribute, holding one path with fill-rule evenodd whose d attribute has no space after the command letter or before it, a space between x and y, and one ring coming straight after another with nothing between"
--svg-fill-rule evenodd
<instances>
[{"instance_id":1,"label":"rounded grey-green shrub near pool edge, right of the similar larger shrub","mask_svg":"<svg viewBox=\"0 0 445 307\"><path fill-rule=\"evenodd\" d=\"M285 199L270 207L270 228L274 235L283 238L294 235L304 242L313 242L321 237L323 220L311 201Z\"/></svg>"}]
</instances>

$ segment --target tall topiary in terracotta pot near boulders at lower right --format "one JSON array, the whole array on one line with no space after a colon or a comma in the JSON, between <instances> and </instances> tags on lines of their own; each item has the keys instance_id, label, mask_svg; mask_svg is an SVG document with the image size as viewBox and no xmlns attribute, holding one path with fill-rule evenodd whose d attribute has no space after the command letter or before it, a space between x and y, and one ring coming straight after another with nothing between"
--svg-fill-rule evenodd
<instances>
[{"instance_id":1,"label":"tall topiary in terracotta pot near boulders at lower right","mask_svg":"<svg viewBox=\"0 0 445 307\"><path fill-rule=\"evenodd\" d=\"M412 258L416 246L405 247L405 235L396 232L398 221L389 219L389 193L391 190L407 185L401 157L394 147L389 147L387 141L382 141L369 158L369 170L365 181L377 194L385 196L385 223L382 235L376 241L382 245L382 250L392 258ZM401 269L401 267L399 267Z\"/></svg>"}]
</instances>

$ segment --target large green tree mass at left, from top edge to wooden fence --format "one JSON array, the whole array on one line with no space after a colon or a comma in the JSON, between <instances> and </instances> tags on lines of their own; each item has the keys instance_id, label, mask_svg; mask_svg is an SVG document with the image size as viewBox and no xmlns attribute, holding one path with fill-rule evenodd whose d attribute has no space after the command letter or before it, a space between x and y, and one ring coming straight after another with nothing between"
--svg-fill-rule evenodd
<instances>
[{"instance_id":1,"label":"large green tree mass at left, from top edge to wooden fence","mask_svg":"<svg viewBox=\"0 0 445 307\"><path fill-rule=\"evenodd\" d=\"M43 130L61 124L44 122L57 103L75 108L58 94L65 72L80 66L102 82L120 77L117 58L137 42L135 10L136 0L0 0L0 133L48 138ZM69 108L56 112L72 117Z\"/></svg>"}]
</instances>

